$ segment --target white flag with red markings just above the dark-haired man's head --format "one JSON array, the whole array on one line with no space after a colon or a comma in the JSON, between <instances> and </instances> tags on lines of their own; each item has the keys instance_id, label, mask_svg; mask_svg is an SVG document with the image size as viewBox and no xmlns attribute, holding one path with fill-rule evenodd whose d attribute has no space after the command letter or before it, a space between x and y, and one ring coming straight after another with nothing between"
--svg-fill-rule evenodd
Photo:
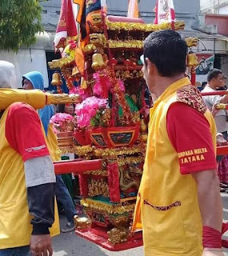
<instances>
[{"instance_id":1,"label":"white flag with red markings just above the dark-haired man's head","mask_svg":"<svg viewBox=\"0 0 228 256\"><path fill-rule=\"evenodd\" d=\"M161 24L163 22L174 22L175 20L173 0L157 0L154 11L154 24Z\"/></svg>"}]
</instances>

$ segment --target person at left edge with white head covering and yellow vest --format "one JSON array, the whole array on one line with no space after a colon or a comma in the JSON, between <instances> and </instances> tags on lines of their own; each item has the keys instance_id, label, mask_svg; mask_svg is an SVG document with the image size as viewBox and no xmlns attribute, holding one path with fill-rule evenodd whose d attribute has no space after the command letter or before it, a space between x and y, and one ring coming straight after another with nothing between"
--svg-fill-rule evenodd
<instances>
[{"instance_id":1,"label":"person at left edge with white head covering and yellow vest","mask_svg":"<svg viewBox=\"0 0 228 256\"><path fill-rule=\"evenodd\" d=\"M15 80L0 61L0 88ZM37 112L22 102L1 111L0 141L0 255L52 255L54 165Z\"/></svg>"}]
</instances>

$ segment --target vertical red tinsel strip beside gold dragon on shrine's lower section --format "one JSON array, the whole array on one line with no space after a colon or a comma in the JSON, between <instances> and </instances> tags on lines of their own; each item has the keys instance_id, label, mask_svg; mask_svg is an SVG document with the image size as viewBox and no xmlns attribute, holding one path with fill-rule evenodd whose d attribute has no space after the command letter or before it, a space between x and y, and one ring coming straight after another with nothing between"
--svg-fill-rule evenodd
<instances>
[{"instance_id":1,"label":"vertical red tinsel strip beside gold dragon on shrine's lower section","mask_svg":"<svg viewBox=\"0 0 228 256\"><path fill-rule=\"evenodd\" d=\"M120 202L120 184L117 162L111 162L107 166L108 171L108 183L110 190L111 202Z\"/></svg>"}]
</instances>

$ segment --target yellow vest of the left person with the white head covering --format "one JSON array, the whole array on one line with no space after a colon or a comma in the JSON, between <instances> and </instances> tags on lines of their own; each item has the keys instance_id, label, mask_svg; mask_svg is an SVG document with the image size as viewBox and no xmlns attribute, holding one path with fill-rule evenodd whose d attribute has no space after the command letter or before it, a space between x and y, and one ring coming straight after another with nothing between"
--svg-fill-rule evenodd
<instances>
[{"instance_id":1,"label":"yellow vest of the left person with the white head covering","mask_svg":"<svg viewBox=\"0 0 228 256\"><path fill-rule=\"evenodd\" d=\"M33 218L27 205L22 156L6 140L5 126L9 109L5 110L0 120L0 249L29 245L32 232L30 221ZM50 234L59 234L56 203Z\"/></svg>"}]
</instances>

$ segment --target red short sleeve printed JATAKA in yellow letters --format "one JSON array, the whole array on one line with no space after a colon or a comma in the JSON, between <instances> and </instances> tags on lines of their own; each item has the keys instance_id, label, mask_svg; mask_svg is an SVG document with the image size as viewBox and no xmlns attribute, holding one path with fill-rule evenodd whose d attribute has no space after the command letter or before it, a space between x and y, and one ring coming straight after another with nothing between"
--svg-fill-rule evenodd
<instances>
[{"instance_id":1,"label":"red short sleeve printed JATAKA in yellow letters","mask_svg":"<svg viewBox=\"0 0 228 256\"><path fill-rule=\"evenodd\" d=\"M175 102L168 110L166 121L182 174L217 168L210 125L202 113Z\"/></svg>"}]
</instances>

